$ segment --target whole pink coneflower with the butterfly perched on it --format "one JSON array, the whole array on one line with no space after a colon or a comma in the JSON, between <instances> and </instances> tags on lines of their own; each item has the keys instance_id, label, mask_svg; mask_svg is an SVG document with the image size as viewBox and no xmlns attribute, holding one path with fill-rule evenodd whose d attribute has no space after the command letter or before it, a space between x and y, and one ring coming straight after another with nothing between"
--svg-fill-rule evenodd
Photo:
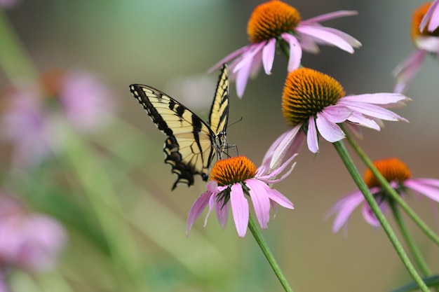
<instances>
[{"instance_id":1,"label":"whole pink coneflower with the butterfly perched on it","mask_svg":"<svg viewBox=\"0 0 439 292\"><path fill-rule=\"evenodd\" d=\"M277 190L270 188L267 183L277 183L288 176L295 164L283 174L281 179L275 176L283 172L291 160L290 158L278 169L269 174L261 173L256 166L245 156L236 156L218 160L212 167L210 178L207 184L208 190L200 195L194 202L187 217L186 232L189 235L192 225L209 205L209 211L205 217L207 224L208 216L215 208L219 225L224 229L229 216L229 205L234 216L236 230L239 237L244 237L247 232L249 209L246 196L250 197L255 208L255 214L261 228L268 228L270 208L276 210L276 203L288 209L294 209L292 202Z\"/></svg>"}]
</instances>

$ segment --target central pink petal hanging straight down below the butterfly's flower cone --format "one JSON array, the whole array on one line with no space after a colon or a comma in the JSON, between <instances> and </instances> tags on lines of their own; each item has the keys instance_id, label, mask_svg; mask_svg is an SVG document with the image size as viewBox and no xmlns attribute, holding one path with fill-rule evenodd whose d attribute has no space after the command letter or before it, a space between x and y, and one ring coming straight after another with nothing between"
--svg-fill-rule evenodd
<instances>
[{"instance_id":1,"label":"central pink petal hanging straight down below the butterfly's flower cone","mask_svg":"<svg viewBox=\"0 0 439 292\"><path fill-rule=\"evenodd\" d=\"M245 200L243 188L239 183L231 186L230 203L238 236L244 237L248 227L248 202Z\"/></svg>"}]
</instances>

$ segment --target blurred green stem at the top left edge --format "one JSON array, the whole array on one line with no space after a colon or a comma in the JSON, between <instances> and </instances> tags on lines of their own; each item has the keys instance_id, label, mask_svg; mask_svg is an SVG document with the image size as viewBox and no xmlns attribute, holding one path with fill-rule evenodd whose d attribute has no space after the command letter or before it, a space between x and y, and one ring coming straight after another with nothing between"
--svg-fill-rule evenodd
<instances>
[{"instance_id":1,"label":"blurred green stem at the top left edge","mask_svg":"<svg viewBox=\"0 0 439 292\"><path fill-rule=\"evenodd\" d=\"M0 67L10 81L35 79L38 73L3 9L0 8Z\"/></svg>"}]
</instances>

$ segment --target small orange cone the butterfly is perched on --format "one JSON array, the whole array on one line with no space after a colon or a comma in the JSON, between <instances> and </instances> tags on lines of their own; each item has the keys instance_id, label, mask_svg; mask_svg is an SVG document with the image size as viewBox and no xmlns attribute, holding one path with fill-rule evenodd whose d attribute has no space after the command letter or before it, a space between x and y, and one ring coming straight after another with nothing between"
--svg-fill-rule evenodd
<instances>
[{"instance_id":1,"label":"small orange cone the butterfly is perched on","mask_svg":"<svg viewBox=\"0 0 439 292\"><path fill-rule=\"evenodd\" d=\"M255 177L257 167L245 156L218 160L212 167L210 179L217 181L219 186L228 186Z\"/></svg>"}]
</instances>

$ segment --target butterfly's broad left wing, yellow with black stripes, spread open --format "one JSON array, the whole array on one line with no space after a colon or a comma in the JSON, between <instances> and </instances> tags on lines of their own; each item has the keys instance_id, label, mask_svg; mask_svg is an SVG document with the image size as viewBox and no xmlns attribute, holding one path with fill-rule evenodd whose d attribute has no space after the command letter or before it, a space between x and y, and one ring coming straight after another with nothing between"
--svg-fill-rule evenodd
<instances>
[{"instance_id":1,"label":"butterfly's broad left wing, yellow with black stripes, spread open","mask_svg":"<svg viewBox=\"0 0 439 292\"><path fill-rule=\"evenodd\" d=\"M215 134L201 118L160 90L147 85L130 85L130 91L142 104L151 120L168 136L163 151L165 162L170 164L177 181L188 186L194 184L194 174L208 180L209 167L215 156Z\"/></svg>"}]
</instances>

